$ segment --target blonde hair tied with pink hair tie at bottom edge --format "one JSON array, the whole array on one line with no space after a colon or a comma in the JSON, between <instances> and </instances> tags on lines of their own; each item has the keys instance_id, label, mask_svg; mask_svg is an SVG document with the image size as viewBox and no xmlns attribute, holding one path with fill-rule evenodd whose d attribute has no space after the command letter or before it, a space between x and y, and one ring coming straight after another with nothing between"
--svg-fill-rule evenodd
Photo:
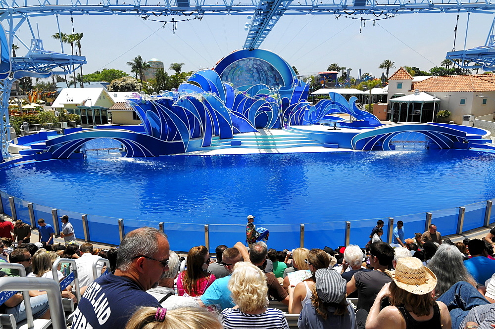
<instances>
[{"instance_id":1,"label":"blonde hair tied with pink hair tie at bottom edge","mask_svg":"<svg viewBox=\"0 0 495 329\"><path fill-rule=\"evenodd\" d=\"M222 329L216 313L198 307L179 307L167 310L165 319L156 321L156 307L138 309L125 329Z\"/></svg>"}]
</instances>

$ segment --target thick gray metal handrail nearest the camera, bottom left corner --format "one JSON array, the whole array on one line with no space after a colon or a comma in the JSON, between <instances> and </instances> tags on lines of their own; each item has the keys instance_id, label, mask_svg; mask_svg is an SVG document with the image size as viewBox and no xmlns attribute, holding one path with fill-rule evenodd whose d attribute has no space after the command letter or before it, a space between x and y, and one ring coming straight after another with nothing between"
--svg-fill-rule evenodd
<instances>
[{"instance_id":1,"label":"thick gray metal handrail nearest the camera, bottom left corner","mask_svg":"<svg viewBox=\"0 0 495 329\"><path fill-rule=\"evenodd\" d=\"M53 329L67 329L67 326L65 325L65 314L62 308L60 286L57 282L47 278L22 277L6 277L0 280L0 291L10 291L12 289L23 291L39 289L46 290ZM26 311L27 310L28 308L26 305Z\"/></svg>"}]
</instances>

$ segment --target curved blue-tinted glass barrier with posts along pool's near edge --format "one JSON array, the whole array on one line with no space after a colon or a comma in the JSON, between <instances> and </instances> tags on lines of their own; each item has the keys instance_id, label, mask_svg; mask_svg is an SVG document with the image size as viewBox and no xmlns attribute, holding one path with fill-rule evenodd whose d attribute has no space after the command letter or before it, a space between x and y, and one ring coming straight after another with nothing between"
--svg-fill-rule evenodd
<instances>
[{"instance_id":1,"label":"curved blue-tinted glass barrier with posts along pool's near edge","mask_svg":"<svg viewBox=\"0 0 495 329\"><path fill-rule=\"evenodd\" d=\"M468 204L461 207L436 210L427 213L396 216L394 218L361 219L342 222L276 224L267 225L270 231L269 246L277 250L337 247L339 245L357 244L364 247L369 241L369 234L378 220L384 221L382 240L395 242L393 228L397 221L404 223L407 238L414 238L415 233L423 233L429 224L435 224L442 235L462 234L463 232L486 227L495 222L492 203L495 199ZM60 216L69 216L77 238L85 241L118 245L127 232L140 227L150 226L168 235L172 250L187 251L195 245L204 244L210 252L220 244L234 245L246 239L246 225L192 224L155 222L151 220L122 219L69 210L54 209L22 200L0 191L0 213L20 219L33 228L40 218L53 226L59 234L62 227ZM392 226L391 226L392 224Z\"/></svg>"}]
</instances>

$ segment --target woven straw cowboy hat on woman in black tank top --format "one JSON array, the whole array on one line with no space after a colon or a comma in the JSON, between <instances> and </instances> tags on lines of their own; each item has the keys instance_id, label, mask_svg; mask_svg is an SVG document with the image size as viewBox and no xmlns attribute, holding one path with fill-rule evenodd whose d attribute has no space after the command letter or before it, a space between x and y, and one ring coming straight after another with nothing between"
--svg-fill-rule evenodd
<instances>
[{"instance_id":1,"label":"woven straw cowboy hat on woman in black tank top","mask_svg":"<svg viewBox=\"0 0 495 329\"><path fill-rule=\"evenodd\" d=\"M397 261L396 270L385 272L397 286L415 295L424 295L437 285L437 277L416 257L404 257Z\"/></svg>"}]
</instances>

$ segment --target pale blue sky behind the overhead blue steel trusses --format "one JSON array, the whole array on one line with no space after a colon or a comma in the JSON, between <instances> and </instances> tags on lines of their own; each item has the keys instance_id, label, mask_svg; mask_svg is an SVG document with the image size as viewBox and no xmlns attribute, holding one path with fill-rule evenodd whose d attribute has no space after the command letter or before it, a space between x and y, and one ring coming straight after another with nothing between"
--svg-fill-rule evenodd
<instances>
[{"instance_id":1,"label":"pale blue sky behind the overhead blue steel trusses","mask_svg":"<svg viewBox=\"0 0 495 329\"><path fill-rule=\"evenodd\" d=\"M277 53L304 75L326 71L328 65L338 63L351 68L353 77L358 75L359 69L380 77L384 70L378 66L386 59L396 66L389 76L404 65L428 71L440 66L446 52L452 50L456 16L451 13L397 14L394 18L376 21L374 26L368 21L361 27L358 19L350 18L360 16L342 15L336 19L332 14L286 15L260 48ZM163 27L162 22L145 21L139 16L73 17L74 31L84 33L82 54L88 61L83 66L84 74L103 68L131 74L126 63L138 55L145 60L163 61L166 70L173 62L185 63L183 71L212 68L230 52L242 49L248 22L247 15L205 15L201 20L178 22L174 33L171 23ZM456 50L464 48L467 17L467 13L459 15ZM171 20L172 16L151 18ZM376 19L372 15L364 18ZM471 14L466 49L485 44L492 20L491 14ZM58 32L55 16L35 17L30 22L35 31L39 29L46 50L60 51L59 42L51 38ZM61 32L72 33L70 16L60 15L59 22ZM27 24L22 25L17 35L29 45L31 33ZM27 52L19 42L14 44L21 47L18 55ZM64 50L70 53L70 45L64 45Z\"/></svg>"}]
</instances>

